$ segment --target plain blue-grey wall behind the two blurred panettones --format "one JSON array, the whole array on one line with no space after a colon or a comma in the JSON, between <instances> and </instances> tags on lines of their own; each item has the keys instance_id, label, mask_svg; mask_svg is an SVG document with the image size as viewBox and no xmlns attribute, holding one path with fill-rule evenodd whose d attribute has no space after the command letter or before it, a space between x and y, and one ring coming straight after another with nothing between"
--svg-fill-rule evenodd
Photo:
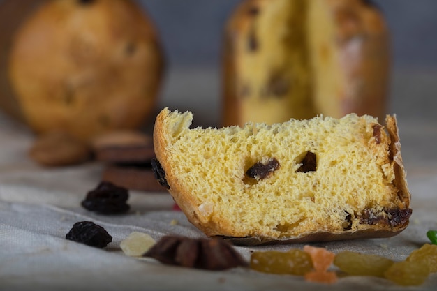
<instances>
[{"instance_id":1,"label":"plain blue-grey wall behind the two blurred panettones","mask_svg":"<svg viewBox=\"0 0 437 291\"><path fill-rule=\"evenodd\" d=\"M161 32L172 65L216 65L221 33L240 0L138 0ZM309 0L311 1L311 0ZM436 68L437 1L374 0L392 31L394 66Z\"/></svg>"}]
</instances>

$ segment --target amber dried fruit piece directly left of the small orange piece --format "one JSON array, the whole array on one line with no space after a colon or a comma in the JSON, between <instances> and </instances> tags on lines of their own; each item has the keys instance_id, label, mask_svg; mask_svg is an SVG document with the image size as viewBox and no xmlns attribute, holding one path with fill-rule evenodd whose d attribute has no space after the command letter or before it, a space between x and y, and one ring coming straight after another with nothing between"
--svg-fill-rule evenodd
<instances>
[{"instance_id":1,"label":"amber dried fruit piece directly left of the small orange piece","mask_svg":"<svg viewBox=\"0 0 437 291\"><path fill-rule=\"evenodd\" d=\"M251 254L250 268L265 273L303 276L313 269L313 263L308 253L293 248L287 252L254 252Z\"/></svg>"}]
</instances>

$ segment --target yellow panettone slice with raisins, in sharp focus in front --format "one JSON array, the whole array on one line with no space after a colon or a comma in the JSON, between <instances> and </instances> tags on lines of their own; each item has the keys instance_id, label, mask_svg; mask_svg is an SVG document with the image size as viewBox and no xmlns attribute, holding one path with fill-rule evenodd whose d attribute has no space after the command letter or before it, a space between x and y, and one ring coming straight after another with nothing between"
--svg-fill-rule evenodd
<instances>
[{"instance_id":1,"label":"yellow panettone slice with raisins, in sharp focus in front","mask_svg":"<svg viewBox=\"0 0 437 291\"><path fill-rule=\"evenodd\" d=\"M156 117L161 182L207 236L242 244L390 237L410 193L395 116L291 119L190 129L191 112Z\"/></svg>"}]
</instances>

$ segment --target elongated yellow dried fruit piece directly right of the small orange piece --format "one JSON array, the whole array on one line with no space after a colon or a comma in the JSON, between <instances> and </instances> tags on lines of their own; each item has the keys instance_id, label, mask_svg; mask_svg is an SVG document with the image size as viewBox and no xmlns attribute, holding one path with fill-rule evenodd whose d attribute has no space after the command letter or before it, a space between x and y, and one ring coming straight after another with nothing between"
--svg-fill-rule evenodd
<instances>
[{"instance_id":1,"label":"elongated yellow dried fruit piece directly right of the small orange piece","mask_svg":"<svg viewBox=\"0 0 437 291\"><path fill-rule=\"evenodd\" d=\"M355 253L351 251L342 251L337 253L334 258L334 264L350 275L353 276L378 276L383 277L384 272L394 262L380 255L369 255L364 253Z\"/></svg>"}]
</instances>

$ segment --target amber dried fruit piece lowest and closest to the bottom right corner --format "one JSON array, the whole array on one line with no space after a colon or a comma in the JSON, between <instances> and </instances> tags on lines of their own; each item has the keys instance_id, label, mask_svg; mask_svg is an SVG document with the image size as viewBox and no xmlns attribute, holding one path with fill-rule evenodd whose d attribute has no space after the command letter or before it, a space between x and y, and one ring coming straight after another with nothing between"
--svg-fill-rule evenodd
<instances>
[{"instance_id":1,"label":"amber dried fruit piece lowest and closest to the bottom right corner","mask_svg":"<svg viewBox=\"0 0 437 291\"><path fill-rule=\"evenodd\" d=\"M384 275L385 278L399 285L422 285L428 278L429 267L417 261L395 262Z\"/></svg>"}]
</instances>

